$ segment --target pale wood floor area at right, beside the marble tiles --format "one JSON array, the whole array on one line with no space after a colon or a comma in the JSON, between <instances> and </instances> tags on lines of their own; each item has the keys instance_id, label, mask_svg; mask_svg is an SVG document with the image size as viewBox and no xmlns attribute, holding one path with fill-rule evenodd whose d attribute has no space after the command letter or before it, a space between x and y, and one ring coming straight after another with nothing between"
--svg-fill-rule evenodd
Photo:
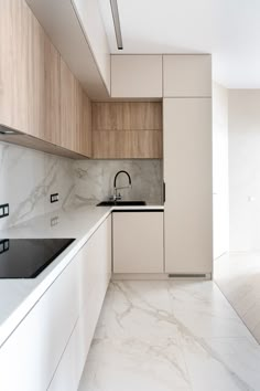
<instances>
[{"instance_id":1,"label":"pale wood floor area at right, beside the marble tiles","mask_svg":"<svg viewBox=\"0 0 260 391\"><path fill-rule=\"evenodd\" d=\"M220 256L215 282L260 344L260 252Z\"/></svg>"}]
</instances>

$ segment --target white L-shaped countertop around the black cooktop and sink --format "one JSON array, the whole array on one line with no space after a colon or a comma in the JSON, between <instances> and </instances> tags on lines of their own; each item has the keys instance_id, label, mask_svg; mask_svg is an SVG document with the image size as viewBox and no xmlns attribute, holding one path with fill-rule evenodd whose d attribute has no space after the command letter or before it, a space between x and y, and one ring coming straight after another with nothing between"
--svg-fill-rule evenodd
<instances>
[{"instance_id":1,"label":"white L-shaped countertop around the black cooktop and sink","mask_svg":"<svg viewBox=\"0 0 260 391\"><path fill-rule=\"evenodd\" d=\"M0 346L33 308L75 254L112 210L151 210L162 205L96 207L82 205L57 210L0 231L0 239L75 237L76 240L36 278L0 279Z\"/></svg>"}]
</instances>

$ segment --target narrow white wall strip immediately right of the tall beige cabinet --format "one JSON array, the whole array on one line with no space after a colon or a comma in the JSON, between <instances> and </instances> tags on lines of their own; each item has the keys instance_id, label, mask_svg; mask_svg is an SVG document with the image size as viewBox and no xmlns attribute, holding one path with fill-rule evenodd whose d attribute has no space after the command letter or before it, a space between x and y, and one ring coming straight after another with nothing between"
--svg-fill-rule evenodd
<instances>
[{"instance_id":1,"label":"narrow white wall strip immediately right of the tall beige cabinet","mask_svg":"<svg viewBox=\"0 0 260 391\"><path fill-rule=\"evenodd\" d=\"M213 84L214 258L229 247L228 89Z\"/></svg>"}]
</instances>

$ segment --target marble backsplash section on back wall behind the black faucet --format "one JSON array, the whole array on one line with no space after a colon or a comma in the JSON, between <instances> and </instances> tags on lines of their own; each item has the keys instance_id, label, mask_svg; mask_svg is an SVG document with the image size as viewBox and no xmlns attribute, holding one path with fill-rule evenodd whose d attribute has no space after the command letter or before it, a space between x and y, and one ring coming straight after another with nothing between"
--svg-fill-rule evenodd
<instances>
[{"instance_id":1,"label":"marble backsplash section on back wall behind the black faucet","mask_svg":"<svg viewBox=\"0 0 260 391\"><path fill-rule=\"evenodd\" d=\"M96 202L112 194L115 175L126 170L132 188L121 191L124 200L144 200L148 204L162 203L161 160L79 160L75 162L75 201ZM118 184L128 184L126 176L118 177Z\"/></svg>"}]
</instances>

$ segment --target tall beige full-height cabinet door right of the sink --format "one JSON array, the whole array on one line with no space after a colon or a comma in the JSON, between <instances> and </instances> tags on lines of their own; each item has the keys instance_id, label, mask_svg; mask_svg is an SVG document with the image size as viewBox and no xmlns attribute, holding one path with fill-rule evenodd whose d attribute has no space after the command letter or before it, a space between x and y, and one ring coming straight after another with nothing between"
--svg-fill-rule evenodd
<instances>
[{"instance_id":1,"label":"tall beige full-height cabinet door right of the sink","mask_svg":"<svg viewBox=\"0 0 260 391\"><path fill-rule=\"evenodd\" d=\"M164 99L163 123L165 272L212 273L212 99Z\"/></svg>"}]
</instances>

